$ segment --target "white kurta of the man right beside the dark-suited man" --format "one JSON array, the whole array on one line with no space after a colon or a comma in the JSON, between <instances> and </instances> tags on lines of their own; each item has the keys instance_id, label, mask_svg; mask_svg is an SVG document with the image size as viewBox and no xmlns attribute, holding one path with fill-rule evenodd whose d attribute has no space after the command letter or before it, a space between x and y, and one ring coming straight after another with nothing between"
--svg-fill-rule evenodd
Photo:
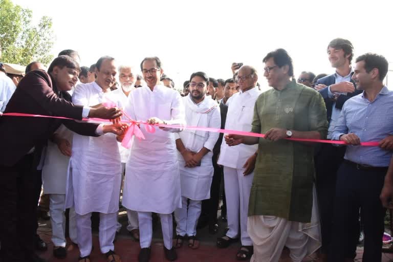
<instances>
[{"instance_id":1,"label":"white kurta of the man right beside the dark-suited man","mask_svg":"<svg viewBox=\"0 0 393 262\"><path fill-rule=\"evenodd\" d=\"M116 102L115 96L103 93L100 86L92 82L79 84L72 101L92 106L105 102L106 96ZM121 162L116 135L107 133L88 137L74 134L70 165L66 207L73 202L80 215L119 210Z\"/></svg>"}]
</instances>

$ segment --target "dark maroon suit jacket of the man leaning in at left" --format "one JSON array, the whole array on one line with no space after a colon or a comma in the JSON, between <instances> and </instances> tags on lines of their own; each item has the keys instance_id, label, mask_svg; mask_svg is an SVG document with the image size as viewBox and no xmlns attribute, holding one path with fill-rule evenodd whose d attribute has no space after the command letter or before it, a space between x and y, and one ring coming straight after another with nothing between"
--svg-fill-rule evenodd
<instances>
[{"instance_id":1,"label":"dark maroon suit jacket of the man leaning in at left","mask_svg":"<svg viewBox=\"0 0 393 262\"><path fill-rule=\"evenodd\" d=\"M26 113L82 119L83 106L74 105L67 92L53 85L43 70L28 73L18 84L4 113ZM13 166L34 146L37 158L55 130L64 124L85 136L97 136L98 124L79 123L74 120L40 117L0 117L0 166Z\"/></svg>"}]
</instances>

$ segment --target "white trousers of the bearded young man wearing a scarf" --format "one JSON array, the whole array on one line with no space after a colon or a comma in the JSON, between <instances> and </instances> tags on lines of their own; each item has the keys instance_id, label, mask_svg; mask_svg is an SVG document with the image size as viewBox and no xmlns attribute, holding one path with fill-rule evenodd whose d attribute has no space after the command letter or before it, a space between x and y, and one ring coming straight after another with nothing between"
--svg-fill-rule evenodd
<instances>
[{"instance_id":1,"label":"white trousers of the bearded young man wearing a scarf","mask_svg":"<svg viewBox=\"0 0 393 262\"><path fill-rule=\"evenodd\" d=\"M187 210L187 198L182 197L182 207L174 210L174 218L176 219L176 233L184 236L194 236L197 234L197 224L201 215L202 201L189 200Z\"/></svg>"}]
</instances>

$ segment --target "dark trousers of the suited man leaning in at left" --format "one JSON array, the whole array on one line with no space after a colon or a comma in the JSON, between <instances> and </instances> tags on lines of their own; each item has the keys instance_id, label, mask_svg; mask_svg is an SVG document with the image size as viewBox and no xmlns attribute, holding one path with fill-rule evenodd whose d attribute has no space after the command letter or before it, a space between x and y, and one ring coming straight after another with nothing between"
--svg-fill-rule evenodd
<instances>
[{"instance_id":1,"label":"dark trousers of the suited man leaning in at left","mask_svg":"<svg viewBox=\"0 0 393 262\"><path fill-rule=\"evenodd\" d=\"M1 261L29 261L37 227L37 179L33 155L14 166L0 166Z\"/></svg>"}]
</instances>

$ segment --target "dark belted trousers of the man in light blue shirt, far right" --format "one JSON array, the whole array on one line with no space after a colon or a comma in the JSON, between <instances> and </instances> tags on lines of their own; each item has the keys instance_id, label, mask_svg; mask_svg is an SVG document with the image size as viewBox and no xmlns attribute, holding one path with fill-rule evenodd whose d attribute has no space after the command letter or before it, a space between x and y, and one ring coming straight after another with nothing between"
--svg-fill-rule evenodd
<instances>
[{"instance_id":1,"label":"dark belted trousers of the man in light blue shirt, far right","mask_svg":"<svg viewBox=\"0 0 393 262\"><path fill-rule=\"evenodd\" d=\"M363 262L381 261L386 210L379 199L387 167L360 170L345 161L337 173L332 250L329 261L350 257L357 243L359 212L364 230Z\"/></svg>"}]
</instances>

